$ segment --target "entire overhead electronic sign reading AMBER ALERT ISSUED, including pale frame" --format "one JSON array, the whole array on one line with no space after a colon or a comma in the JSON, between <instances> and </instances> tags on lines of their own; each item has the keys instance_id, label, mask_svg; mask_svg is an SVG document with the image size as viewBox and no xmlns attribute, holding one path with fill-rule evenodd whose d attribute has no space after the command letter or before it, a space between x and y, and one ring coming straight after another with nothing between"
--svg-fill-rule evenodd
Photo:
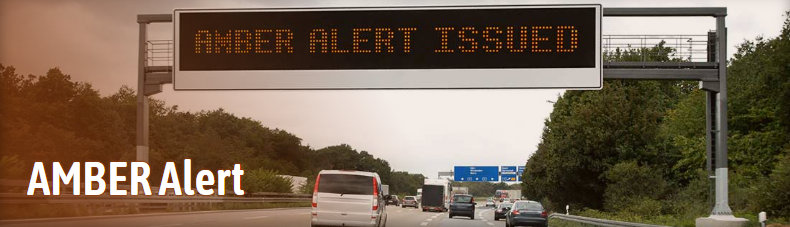
<instances>
[{"instance_id":1,"label":"entire overhead electronic sign reading AMBER ALERT ISSUED, including pale frame","mask_svg":"<svg viewBox=\"0 0 790 227\"><path fill-rule=\"evenodd\" d=\"M174 11L176 90L600 89L601 5Z\"/></svg>"}]
</instances>

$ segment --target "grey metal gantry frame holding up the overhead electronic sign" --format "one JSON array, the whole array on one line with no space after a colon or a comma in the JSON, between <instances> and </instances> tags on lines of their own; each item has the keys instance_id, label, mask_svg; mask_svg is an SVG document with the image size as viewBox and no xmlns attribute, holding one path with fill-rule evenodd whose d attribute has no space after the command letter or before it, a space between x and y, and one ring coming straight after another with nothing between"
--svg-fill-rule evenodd
<instances>
[{"instance_id":1,"label":"grey metal gantry frame holding up the overhead electronic sign","mask_svg":"<svg viewBox=\"0 0 790 227\"><path fill-rule=\"evenodd\" d=\"M692 80L706 92L706 168L715 178L715 205L711 215L732 216L727 191L727 27L725 7L603 8L605 17L714 17L715 58L709 62L604 62L604 79ZM148 66L148 24L172 23L172 14L140 14L137 83L137 161L148 162L148 96L162 92L173 81L172 66ZM142 91L142 92L140 92Z\"/></svg>"}]
</instances>

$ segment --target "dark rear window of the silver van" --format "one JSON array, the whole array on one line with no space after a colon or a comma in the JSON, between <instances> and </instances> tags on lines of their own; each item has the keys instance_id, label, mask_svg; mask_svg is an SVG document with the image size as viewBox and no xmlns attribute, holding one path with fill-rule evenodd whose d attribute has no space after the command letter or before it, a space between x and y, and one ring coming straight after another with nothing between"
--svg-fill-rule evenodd
<instances>
[{"instance_id":1,"label":"dark rear window of the silver van","mask_svg":"<svg viewBox=\"0 0 790 227\"><path fill-rule=\"evenodd\" d=\"M373 195L373 177L349 174L321 174L318 192Z\"/></svg>"}]
</instances>

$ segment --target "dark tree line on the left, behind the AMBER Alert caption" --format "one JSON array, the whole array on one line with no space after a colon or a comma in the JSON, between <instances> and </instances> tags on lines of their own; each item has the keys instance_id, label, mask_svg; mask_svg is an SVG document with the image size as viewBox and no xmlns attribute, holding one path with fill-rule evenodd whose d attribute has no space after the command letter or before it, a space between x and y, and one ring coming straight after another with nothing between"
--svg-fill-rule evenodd
<instances>
[{"instance_id":1,"label":"dark tree line on the left, behind the AMBER Alert caption","mask_svg":"<svg viewBox=\"0 0 790 227\"><path fill-rule=\"evenodd\" d=\"M223 109L190 112L149 101L150 182L161 180L165 162L183 174L183 160L191 159L192 176L241 164L242 187L252 192L288 192L291 181L278 175L314 180L323 169L377 172L395 193L416 194L422 186L421 174L393 171L386 160L347 144L316 149ZM135 161L136 102L127 86L101 96L58 68L23 76L0 64L0 179L29 179L33 162Z\"/></svg>"}]
</instances>

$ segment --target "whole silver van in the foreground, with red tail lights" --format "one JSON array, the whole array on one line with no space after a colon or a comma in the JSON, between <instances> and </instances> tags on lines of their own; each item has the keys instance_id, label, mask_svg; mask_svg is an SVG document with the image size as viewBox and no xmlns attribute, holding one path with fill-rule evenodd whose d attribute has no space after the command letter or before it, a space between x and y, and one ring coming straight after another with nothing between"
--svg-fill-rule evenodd
<instances>
[{"instance_id":1,"label":"whole silver van in the foreground, with red tail lights","mask_svg":"<svg viewBox=\"0 0 790 227\"><path fill-rule=\"evenodd\" d=\"M385 226L381 178L371 172L322 170L315 179L311 215L313 227Z\"/></svg>"}]
</instances>

